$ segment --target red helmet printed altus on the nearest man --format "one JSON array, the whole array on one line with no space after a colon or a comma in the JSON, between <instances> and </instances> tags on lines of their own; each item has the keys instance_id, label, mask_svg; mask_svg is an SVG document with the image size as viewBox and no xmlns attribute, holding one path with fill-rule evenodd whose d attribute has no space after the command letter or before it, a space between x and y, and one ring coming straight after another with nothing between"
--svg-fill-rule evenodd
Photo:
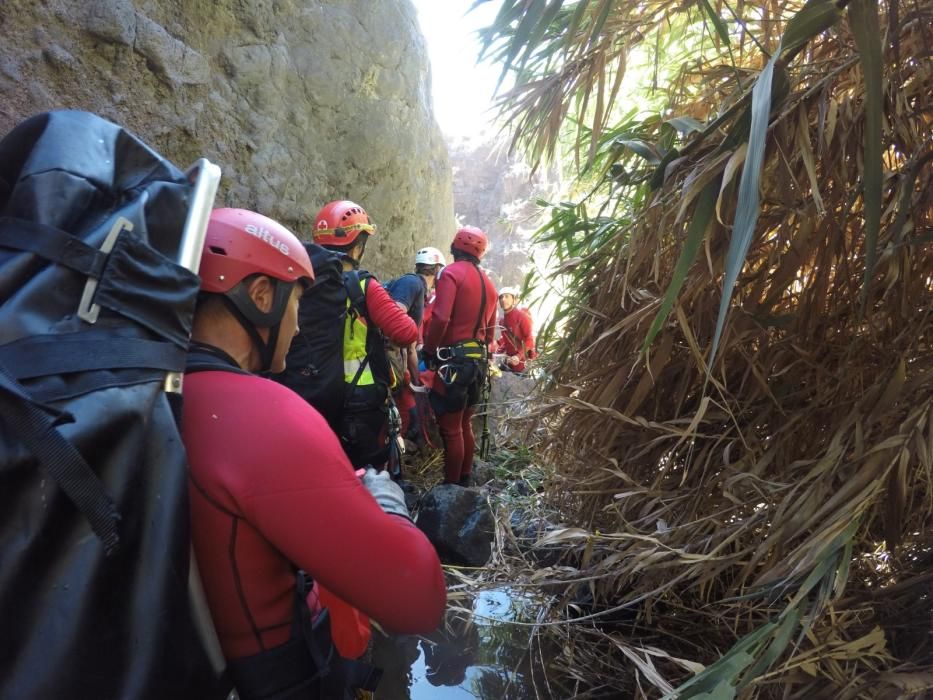
<instances>
[{"instance_id":1,"label":"red helmet printed altus on the nearest man","mask_svg":"<svg viewBox=\"0 0 933 700\"><path fill-rule=\"evenodd\" d=\"M246 209L215 209L198 270L201 289L229 292L255 273L284 282L314 281L308 252L282 224Z\"/></svg>"}]
</instances>

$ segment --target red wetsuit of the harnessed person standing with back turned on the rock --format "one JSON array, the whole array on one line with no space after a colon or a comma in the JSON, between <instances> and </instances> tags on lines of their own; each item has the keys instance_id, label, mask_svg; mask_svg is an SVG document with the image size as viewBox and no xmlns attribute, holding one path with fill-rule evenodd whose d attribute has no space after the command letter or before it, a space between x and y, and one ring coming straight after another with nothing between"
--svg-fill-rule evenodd
<instances>
[{"instance_id":1,"label":"red wetsuit of the harnessed person standing with back turned on the rock","mask_svg":"<svg viewBox=\"0 0 933 700\"><path fill-rule=\"evenodd\" d=\"M486 304L481 308L484 288ZM464 340L476 339L487 345L493 342L497 301L495 285L478 266L461 260L445 267L437 280L431 321L424 334L425 354L433 356L438 347ZM446 389L439 376L435 376L431 392L444 439L444 477L455 483L469 477L473 469L476 440L470 419L478 397L471 393L464 406L445 406Z\"/></svg>"}]
</instances>

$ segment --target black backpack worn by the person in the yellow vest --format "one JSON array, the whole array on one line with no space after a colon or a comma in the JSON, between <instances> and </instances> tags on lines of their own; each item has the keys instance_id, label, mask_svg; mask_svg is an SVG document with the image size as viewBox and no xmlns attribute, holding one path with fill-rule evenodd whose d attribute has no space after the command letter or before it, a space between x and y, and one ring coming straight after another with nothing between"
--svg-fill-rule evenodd
<instances>
[{"instance_id":1,"label":"black backpack worn by the person in the yellow vest","mask_svg":"<svg viewBox=\"0 0 933 700\"><path fill-rule=\"evenodd\" d=\"M360 283L369 284L375 277L363 270L344 272L340 255L315 243L306 243L305 249L314 268L314 285L301 297L298 337L288 351L285 371L274 379L314 406L339 435L349 388L343 372L344 326L348 315L362 316L369 323ZM378 329L369 326L367 362L376 381L388 391L385 341Z\"/></svg>"}]
</instances>

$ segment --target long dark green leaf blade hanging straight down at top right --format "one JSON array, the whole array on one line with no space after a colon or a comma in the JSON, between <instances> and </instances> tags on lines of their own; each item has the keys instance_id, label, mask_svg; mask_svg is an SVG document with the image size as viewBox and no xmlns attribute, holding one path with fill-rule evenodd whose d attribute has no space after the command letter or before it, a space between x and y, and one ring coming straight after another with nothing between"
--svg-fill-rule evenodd
<instances>
[{"instance_id":1,"label":"long dark green leaf blade hanging straight down at top right","mask_svg":"<svg viewBox=\"0 0 933 700\"><path fill-rule=\"evenodd\" d=\"M865 76L865 171L862 177L862 198L865 203L865 273L861 291L864 313L877 258L883 184L881 112L884 109L884 98L881 86L881 32L878 28L877 0L855 0L849 5L849 24L858 46L862 73Z\"/></svg>"}]
</instances>

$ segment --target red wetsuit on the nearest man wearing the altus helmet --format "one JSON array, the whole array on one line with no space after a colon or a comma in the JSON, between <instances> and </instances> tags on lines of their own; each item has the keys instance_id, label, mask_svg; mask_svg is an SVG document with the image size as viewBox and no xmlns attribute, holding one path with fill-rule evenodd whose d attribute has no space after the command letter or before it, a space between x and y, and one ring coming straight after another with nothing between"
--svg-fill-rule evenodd
<instances>
[{"instance_id":1,"label":"red wetsuit on the nearest man wearing the altus helmet","mask_svg":"<svg viewBox=\"0 0 933 700\"><path fill-rule=\"evenodd\" d=\"M184 386L193 542L228 659L288 640L296 567L395 632L437 627L434 547L382 511L315 409L252 375L204 371Z\"/></svg>"}]
</instances>

